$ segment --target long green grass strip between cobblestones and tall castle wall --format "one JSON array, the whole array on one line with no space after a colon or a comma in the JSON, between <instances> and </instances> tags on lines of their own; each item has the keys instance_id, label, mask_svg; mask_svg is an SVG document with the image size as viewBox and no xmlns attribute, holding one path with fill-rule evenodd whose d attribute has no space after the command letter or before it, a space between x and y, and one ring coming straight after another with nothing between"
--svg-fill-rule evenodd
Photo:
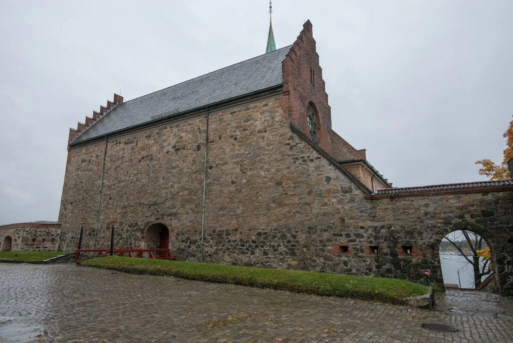
<instances>
[{"instance_id":1,"label":"long green grass strip between cobblestones and tall castle wall","mask_svg":"<svg viewBox=\"0 0 513 343\"><path fill-rule=\"evenodd\" d=\"M334 295L406 304L405 298L428 294L424 285L406 280L295 270L253 268L130 257L99 257L81 265L132 274L169 275L299 293Z\"/></svg>"}]
</instances>

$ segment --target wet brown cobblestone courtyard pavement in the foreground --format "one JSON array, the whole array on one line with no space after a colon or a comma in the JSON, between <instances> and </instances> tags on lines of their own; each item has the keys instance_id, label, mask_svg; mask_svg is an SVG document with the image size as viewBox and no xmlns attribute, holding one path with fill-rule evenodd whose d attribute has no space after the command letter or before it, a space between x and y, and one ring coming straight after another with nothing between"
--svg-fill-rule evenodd
<instances>
[{"instance_id":1,"label":"wet brown cobblestone courtyard pavement in the foreground","mask_svg":"<svg viewBox=\"0 0 513 343\"><path fill-rule=\"evenodd\" d=\"M456 300L444 306L455 308ZM485 300L484 300L485 301ZM513 300L497 297L503 308ZM0 263L0 340L123 342L513 341L508 316L461 315L74 264ZM455 333L429 331L445 323Z\"/></svg>"}]
</instances>

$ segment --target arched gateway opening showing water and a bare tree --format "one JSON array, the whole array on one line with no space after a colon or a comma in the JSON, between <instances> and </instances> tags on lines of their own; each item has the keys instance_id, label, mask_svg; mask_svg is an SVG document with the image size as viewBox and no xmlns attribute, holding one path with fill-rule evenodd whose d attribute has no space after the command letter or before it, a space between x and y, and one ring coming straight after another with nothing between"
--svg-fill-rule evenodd
<instances>
[{"instance_id":1,"label":"arched gateway opening showing water and a bare tree","mask_svg":"<svg viewBox=\"0 0 513 343\"><path fill-rule=\"evenodd\" d=\"M491 281L492 254L479 234L452 231L442 238L439 253L445 288L479 289L483 281Z\"/></svg>"}]
</instances>

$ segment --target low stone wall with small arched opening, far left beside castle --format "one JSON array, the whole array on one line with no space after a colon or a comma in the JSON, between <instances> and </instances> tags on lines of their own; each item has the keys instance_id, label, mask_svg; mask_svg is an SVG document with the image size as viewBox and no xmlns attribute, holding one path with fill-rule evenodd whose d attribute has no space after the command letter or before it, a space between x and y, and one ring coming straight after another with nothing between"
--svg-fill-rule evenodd
<instances>
[{"instance_id":1,"label":"low stone wall with small arched opening, far left beside castle","mask_svg":"<svg viewBox=\"0 0 513 343\"><path fill-rule=\"evenodd\" d=\"M0 251L57 251L60 233L61 224L58 223L2 225Z\"/></svg>"}]
</instances>

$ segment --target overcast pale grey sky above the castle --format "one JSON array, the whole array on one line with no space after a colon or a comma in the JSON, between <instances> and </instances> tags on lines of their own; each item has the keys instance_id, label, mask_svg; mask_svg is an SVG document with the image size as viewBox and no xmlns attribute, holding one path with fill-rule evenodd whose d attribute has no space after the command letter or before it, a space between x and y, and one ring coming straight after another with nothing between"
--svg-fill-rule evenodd
<instances>
[{"instance_id":1,"label":"overcast pale grey sky above the castle","mask_svg":"<svg viewBox=\"0 0 513 343\"><path fill-rule=\"evenodd\" d=\"M265 52L268 2L0 0L0 224L56 220L69 127ZM394 186L485 180L513 114L513 1L273 3L277 47L305 20L333 129Z\"/></svg>"}]
</instances>

